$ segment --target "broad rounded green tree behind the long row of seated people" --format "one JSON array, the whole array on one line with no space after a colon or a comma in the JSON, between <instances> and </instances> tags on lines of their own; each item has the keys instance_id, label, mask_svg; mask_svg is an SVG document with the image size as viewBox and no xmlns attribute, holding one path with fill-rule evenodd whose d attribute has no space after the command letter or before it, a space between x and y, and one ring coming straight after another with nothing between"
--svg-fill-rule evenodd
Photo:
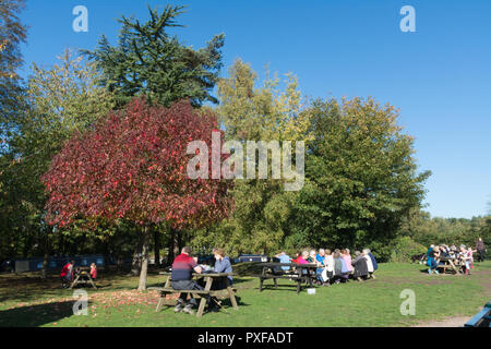
<instances>
[{"instance_id":1,"label":"broad rounded green tree behind the long row of seated people","mask_svg":"<svg viewBox=\"0 0 491 349\"><path fill-rule=\"evenodd\" d=\"M297 242L371 246L387 258L402 218L419 208L429 171L418 172L397 110L372 98L312 105L307 182L291 222ZM383 255L382 255L383 254Z\"/></svg>"}]
</instances>

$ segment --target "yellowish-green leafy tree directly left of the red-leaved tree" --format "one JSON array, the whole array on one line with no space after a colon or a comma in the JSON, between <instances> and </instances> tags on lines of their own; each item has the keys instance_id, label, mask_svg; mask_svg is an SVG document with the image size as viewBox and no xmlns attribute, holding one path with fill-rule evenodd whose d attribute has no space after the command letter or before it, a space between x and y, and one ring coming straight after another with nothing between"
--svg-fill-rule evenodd
<instances>
[{"instance_id":1,"label":"yellowish-green leafy tree directly left of the red-leaved tree","mask_svg":"<svg viewBox=\"0 0 491 349\"><path fill-rule=\"evenodd\" d=\"M9 165L2 176L8 179L4 188L10 207L17 207L7 217L9 231L24 231L26 239L35 237L47 262L53 230L44 221L46 195L40 176L72 133L83 132L106 115L113 98L99 86L95 64L70 51L51 69L33 64L32 71L26 108L10 123Z\"/></svg>"}]
</instances>

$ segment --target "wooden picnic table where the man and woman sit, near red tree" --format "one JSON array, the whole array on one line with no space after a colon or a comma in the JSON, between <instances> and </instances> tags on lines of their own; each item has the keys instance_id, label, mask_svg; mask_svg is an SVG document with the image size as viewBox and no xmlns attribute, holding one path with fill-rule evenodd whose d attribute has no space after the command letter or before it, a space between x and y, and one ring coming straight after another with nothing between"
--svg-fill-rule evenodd
<instances>
[{"instance_id":1,"label":"wooden picnic table where the man and woman sit, near red tree","mask_svg":"<svg viewBox=\"0 0 491 349\"><path fill-rule=\"evenodd\" d=\"M235 274L231 274L231 273L202 273L202 274L193 273L194 278L204 278L204 281L206 282L204 290L175 290L170 285L171 273L160 272L158 274L167 276L167 279L166 279L164 287L149 287L148 288L149 290L158 291L160 294L160 297L158 299L157 308L155 309L156 312L160 311L160 309L164 305L167 305L167 306L176 305L176 303L166 302L166 296L173 294L173 293L188 293L188 294L193 294L193 296L197 296L199 298L201 298L200 305L197 308L197 314L196 314L197 317L201 317L203 315L204 308L206 305L206 297L216 297L216 298L227 298L228 297L230 299L230 302L231 302L233 309L235 310L239 309L236 297L233 294L233 292L237 290L230 286L230 281L227 277L227 276L233 276ZM213 282L216 280L220 280L220 279L225 279L226 288L221 289L221 290L212 290Z\"/></svg>"}]
</instances>

